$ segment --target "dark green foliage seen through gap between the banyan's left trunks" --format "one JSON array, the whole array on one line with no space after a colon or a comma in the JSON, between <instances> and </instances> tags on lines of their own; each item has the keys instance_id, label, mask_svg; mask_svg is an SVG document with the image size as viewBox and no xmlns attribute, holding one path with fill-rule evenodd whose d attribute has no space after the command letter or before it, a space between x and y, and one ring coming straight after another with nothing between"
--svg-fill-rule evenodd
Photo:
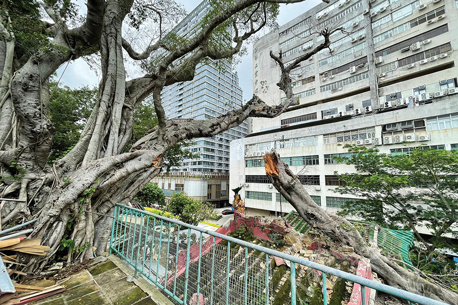
<instances>
[{"instance_id":1,"label":"dark green foliage seen through gap between the banyan's left trunks","mask_svg":"<svg viewBox=\"0 0 458 305\"><path fill-rule=\"evenodd\" d=\"M49 99L49 118L55 132L48 162L53 163L78 143L81 131L98 98L98 90L87 86L71 89L52 82L50 91L52 95Z\"/></svg>"}]
</instances>

